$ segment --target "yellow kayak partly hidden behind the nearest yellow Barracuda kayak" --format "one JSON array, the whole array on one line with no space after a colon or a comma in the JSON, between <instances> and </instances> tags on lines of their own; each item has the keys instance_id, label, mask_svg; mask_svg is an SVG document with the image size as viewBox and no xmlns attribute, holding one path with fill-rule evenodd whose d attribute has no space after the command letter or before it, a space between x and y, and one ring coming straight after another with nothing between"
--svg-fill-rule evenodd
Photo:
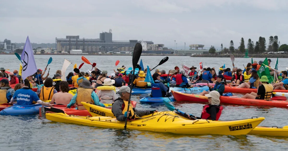
<instances>
[{"instance_id":1,"label":"yellow kayak partly hidden behind the nearest yellow Barracuda kayak","mask_svg":"<svg viewBox=\"0 0 288 151\"><path fill-rule=\"evenodd\" d=\"M110 116L110 117L115 117L114 114L111 112L110 109L108 108L103 108L101 106L96 106L96 105L92 105L92 104L87 104L85 103L85 105L87 109L89 109L91 107L92 110L98 111L98 113L101 113L102 116L106 115L106 116ZM167 114L169 111L164 111L165 114ZM93 116L99 116L100 114L95 114L93 112L90 112ZM172 115L180 115L179 117L185 118L185 116L183 116L183 114L179 114L179 112L169 112ZM192 119L190 119L192 120ZM288 137L288 126L285 127L264 127L264 126L257 126L255 127L251 132L249 132L249 134L259 134L259 135L269 135L269 136L286 136Z\"/></svg>"}]
</instances>

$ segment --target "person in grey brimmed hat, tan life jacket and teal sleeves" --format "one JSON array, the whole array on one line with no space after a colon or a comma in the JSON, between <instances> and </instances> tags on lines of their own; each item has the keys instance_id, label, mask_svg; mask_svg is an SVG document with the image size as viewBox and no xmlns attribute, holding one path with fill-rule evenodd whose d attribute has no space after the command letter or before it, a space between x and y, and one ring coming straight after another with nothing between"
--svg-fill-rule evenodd
<instances>
[{"instance_id":1,"label":"person in grey brimmed hat, tan life jacket and teal sleeves","mask_svg":"<svg viewBox=\"0 0 288 151\"><path fill-rule=\"evenodd\" d=\"M77 107L75 109L86 110L81 102L90 102L91 104L106 107L99 101L97 94L93 91L93 86L90 86L90 82L88 80L83 80L83 82L79 84L76 94L65 108L71 108L72 105L76 104Z\"/></svg>"}]
</instances>

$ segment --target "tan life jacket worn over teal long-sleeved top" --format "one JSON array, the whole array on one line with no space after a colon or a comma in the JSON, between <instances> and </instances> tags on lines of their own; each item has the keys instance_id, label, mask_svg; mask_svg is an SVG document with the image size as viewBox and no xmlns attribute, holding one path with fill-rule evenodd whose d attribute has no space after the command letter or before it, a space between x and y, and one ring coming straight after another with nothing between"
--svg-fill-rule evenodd
<instances>
[{"instance_id":1,"label":"tan life jacket worn over teal long-sleeved top","mask_svg":"<svg viewBox=\"0 0 288 151\"><path fill-rule=\"evenodd\" d=\"M78 110L86 110L81 102L90 102L91 104L95 104L94 100L91 98L92 92L93 89L86 89L84 87L77 88L76 104L78 106Z\"/></svg>"}]
</instances>

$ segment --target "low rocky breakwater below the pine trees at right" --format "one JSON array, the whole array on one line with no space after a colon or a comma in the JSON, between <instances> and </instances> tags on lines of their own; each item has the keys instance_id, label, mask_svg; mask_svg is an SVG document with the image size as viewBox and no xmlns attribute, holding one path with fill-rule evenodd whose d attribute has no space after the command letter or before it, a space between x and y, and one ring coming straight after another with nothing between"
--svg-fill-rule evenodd
<instances>
[{"instance_id":1,"label":"low rocky breakwater below the pine trees at right","mask_svg":"<svg viewBox=\"0 0 288 151\"><path fill-rule=\"evenodd\" d=\"M235 58L243 58L245 54L233 54ZM195 54L191 57L219 57L230 58L230 54ZM288 54L249 54L248 57L252 58L288 58Z\"/></svg>"}]
</instances>

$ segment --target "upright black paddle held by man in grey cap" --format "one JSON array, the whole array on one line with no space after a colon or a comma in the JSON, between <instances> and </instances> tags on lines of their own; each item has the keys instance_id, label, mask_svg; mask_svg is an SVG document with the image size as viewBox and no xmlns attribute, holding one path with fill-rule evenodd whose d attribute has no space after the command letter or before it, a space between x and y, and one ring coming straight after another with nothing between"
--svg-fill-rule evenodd
<instances>
[{"instance_id":1,"label":"upright black paddle held by man in grey cap","mask_svg":"<svg viewBox=\"0 0 288 151\"><path fill-rule=\"evenodd\" d=\"M136 43L136 45L134 47L134 51L133 51L133 57L132 57L132 65L133 65L133 72L132 73L135 72L135 68L136 68L136 65L140 59L141 53L142 53L142 45L140 43ZM129 112L129 106L130 106L130 102L131 102L130 99L131 99L131 93L132 93L132 88L133 88L134 75L132 75L131 81L132 82L131 82L131 87L130 87L130 95L129 95L129 100L128 100L127 112ZM128 120L128 117L126 117L126 119L125 119L125 126L124 126L125 130L127 127L127 120Z\"/></svg>"}]
</instances>

